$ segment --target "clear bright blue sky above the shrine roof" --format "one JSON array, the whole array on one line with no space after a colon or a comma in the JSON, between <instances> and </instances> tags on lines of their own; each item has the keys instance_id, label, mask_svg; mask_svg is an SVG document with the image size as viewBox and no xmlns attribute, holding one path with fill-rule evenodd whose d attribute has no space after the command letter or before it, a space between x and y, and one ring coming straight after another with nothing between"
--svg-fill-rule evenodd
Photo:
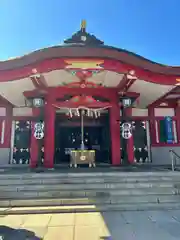
<instances>
[{"instance_id":1,"label":"clear bright blue sky above the shrine roof","mask_svg":"<svg viewBox=\"0 0 180 240\"><path fill-rule=\"evenodd\" d=\"M0 0L0 60L87 30L107 45L180 66L180 0Z\"/></svg>"}]
</instances>

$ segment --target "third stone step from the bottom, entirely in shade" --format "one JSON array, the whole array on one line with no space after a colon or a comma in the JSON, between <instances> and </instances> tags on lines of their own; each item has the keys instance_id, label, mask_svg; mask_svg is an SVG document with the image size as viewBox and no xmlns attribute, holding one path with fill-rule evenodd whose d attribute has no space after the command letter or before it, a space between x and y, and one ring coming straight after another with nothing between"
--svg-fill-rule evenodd
<instances>
[{"instance_id":1,"label":"third stone step from the bottom, entirely in shade","mask_svg":"<svg viewBox=\"0 0 180 240\"><path fill-rule=\"evenodd\" d=\"M1 191L0 199L25 199L25 198L59 198L59 197L110 197L110 196L141 196L149 195L178 195L179 191L174 188L132 188L132 189L96 189L96 190L46 190L46 191Z\"/></svg>"}]
</instances>

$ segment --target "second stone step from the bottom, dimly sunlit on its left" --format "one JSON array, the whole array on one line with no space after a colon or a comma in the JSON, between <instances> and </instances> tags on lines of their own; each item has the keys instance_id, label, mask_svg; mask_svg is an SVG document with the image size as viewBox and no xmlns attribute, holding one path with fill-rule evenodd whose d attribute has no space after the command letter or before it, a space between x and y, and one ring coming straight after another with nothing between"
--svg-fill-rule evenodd
<instances>
[{"instance_id":1,"label":"second stone step from the bottom, dimly sunlit on its left","mask_svg":"<svg viewBox=\"0 0 180 240\"><path fill-rule=\"evenodd\" d=\"M145 203L180 203L180 196L174 195L151 195L151 196L111 196L108 198L54 198L54 199L14 199L0 200L1 207L22 207L22 206L71 206L89 204L145 204Z\"/></svg>"}]
</instances>

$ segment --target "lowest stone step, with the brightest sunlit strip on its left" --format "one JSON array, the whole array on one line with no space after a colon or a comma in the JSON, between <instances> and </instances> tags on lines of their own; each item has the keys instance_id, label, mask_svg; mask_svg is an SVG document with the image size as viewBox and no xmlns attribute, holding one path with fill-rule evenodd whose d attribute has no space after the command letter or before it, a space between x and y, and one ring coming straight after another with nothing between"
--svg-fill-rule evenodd
<instances>
[{"instance_id":1,"label":"lowest stone step, with the brightest sunlit strip on its left","mask_svg":"<svg viewBox=\"0 0 180 240\"><path fill-rule=\"evenodd\" d=\"M144 211L144 210L179 210L180 203L140 203L140 204L100 204L81 206L47 206L0 208L0 215L52 214L72 212L106 212L106 211Z\"/></svg>"}]
</instances>

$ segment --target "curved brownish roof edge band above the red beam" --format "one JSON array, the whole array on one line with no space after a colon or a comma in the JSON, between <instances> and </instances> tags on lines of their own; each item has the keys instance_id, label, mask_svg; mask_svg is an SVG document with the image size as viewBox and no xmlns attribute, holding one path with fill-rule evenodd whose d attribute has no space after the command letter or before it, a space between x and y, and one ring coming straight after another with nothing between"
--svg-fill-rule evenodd
<instances>
[{"instance_id":1,"label":"curved brownish roof edge band above the red beam","mask_svg":"<svg viewBox=\"0 0 180 240\"><path fill-rule=\"evenodd\" d=\"M34 51L22 57L0 61L0 71L22 68L42 60L63 57L116 59L154 73L180 75L180 67L156 63L124 49L106 45L87 46L83 44L53 46Z\"/></svg>"}]
</instances>

